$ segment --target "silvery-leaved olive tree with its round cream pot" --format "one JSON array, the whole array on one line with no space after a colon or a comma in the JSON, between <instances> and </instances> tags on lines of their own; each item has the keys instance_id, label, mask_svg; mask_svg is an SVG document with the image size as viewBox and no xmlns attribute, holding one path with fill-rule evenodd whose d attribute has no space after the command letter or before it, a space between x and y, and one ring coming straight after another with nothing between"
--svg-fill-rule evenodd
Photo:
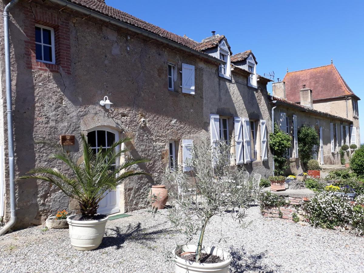
<instances>
[{"instance_id":1,"label":"silvery-leaved olive tree with its round cream pot","mask_svg":"<svg viewBox=\"0 0 364 273\"><path fill-rule=\"evenodd\" d=\"M169 187L170 208L151 210L154 214L165 215L187 237L170 255L175 272L227 272L232 260L229 252L205 245L205 229L212 217L223 217L227 211L239 225L246 226L242 218L253 200L252 185L246 183L243 170L231 168L226 160L230 147L225 143L218 147L218 151L211 151L210 144L205 141L193 146L192 158L186 162L193 170L191 175L178 170L166 171L166 183L175 186L177 181L183 194L178 195L172 190L174 187ZM194 235L199 235L198 240L190 244Z\"/></svg>"}]
</instances>

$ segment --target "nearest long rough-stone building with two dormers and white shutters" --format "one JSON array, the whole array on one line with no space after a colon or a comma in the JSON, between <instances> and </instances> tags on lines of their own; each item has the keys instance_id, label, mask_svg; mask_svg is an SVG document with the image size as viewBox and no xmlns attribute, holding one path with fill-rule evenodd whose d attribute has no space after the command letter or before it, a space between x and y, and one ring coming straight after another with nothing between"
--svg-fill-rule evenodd
<instances>
[{"instance_id":1,"label":"nearest long rough-stone building with two dormers and white shutters","mask_svg":"<svg viewBox=\"0 0 364 273\"><path fill-rule=\"evenodd\" d=\"M2 1L1 7L9 1ZM108 193L99 212L145 206L162 170L183 162L201 139L234 143L231 164L263 176L272 173L267 149L271 124L270 81L257 74L252 52L233 55L225 36L201 43L149 24L102 0L20 0L10 10L10 57L15 143L15 180L35 166L64 166L48 157L52 149L35 141L80 134L107 147L132 138L127 157L151 161L135 177ZM1 24L1 33L4 25ZM1 75L4 75L1 40ZM0 217L9 217L8 137L5 78L1 78ZM107 98L105 98L107 96ZM109 109L100 105L109 99ZM5 147L5 148L4 148ZM123 160L123 158L120 158ZM39 225L59 209L76 204L49 183L16 180L15 228Z\"/></svg>"}]
</instances>

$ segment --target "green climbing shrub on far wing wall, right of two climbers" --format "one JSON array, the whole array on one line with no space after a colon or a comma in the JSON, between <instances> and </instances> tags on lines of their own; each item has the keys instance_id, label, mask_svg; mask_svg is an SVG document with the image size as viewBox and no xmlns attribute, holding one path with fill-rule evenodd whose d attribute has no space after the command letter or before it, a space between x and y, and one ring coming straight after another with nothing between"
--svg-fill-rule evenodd
<instances>
[{"instance_id":1,"label":"green climbing shrub on far wing wall, right of two climbers","mask_svg":"<svg viewBox=\"0 0 364 273\"><path fill-rule=\"evenodd\" d=\"M300 157L302 167L305 171L311 170L307 169L308 168L307 164L309 160L312 159L313 154L317 153L316 150L313 150L313 146L320 145L318 134L313 127L304 124L298 128L297 138L298 138L298 155Z\"/></svg>"}]
</instances>

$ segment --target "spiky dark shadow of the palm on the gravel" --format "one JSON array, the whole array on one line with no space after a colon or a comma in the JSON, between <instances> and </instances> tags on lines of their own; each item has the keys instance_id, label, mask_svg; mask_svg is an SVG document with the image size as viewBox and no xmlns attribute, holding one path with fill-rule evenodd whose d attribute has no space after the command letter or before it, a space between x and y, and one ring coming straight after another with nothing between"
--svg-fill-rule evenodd
<instances>
[{"instance_id":1,"label":"spiky dark shadow of the palm on the gravel","mask_svg":"<svg viewBox=\"0 0 364 273\"><path fill-rule=\"evenodd\" d=\"M153 230L153 227L149 227L149 229ZM116 249L123 248L122 244L125 241L135 241L143 244L145 241L154 241L158 235L173 233L173 230L169 229L159 229L148 232L146 228L141 227L141 223L138 223L135 226L129 224L127 229L125 227L114 227L107 228L105 230L105 236L102 239L102 243L98 249L109 248L110 246L116 246ZM147 245L147 244L143 244Z\"/></svg>"}]
</instances>

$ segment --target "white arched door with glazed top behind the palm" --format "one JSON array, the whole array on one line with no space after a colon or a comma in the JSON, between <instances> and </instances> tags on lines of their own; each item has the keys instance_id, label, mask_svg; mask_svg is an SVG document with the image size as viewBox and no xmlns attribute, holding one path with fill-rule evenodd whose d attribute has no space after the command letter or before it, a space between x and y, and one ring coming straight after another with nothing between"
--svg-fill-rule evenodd
<instances>
[{"instance_id":1,"label":"white arched door with glazed top behind the palm","mask_svg":"<svg viewBox=\"0 0 364 273\"><path fill-rule=\"evenodd\" d=\"M108 149L112 143L119 140L117 131L110 130L108 128L101 128L94 131L90 131L87 134L87 141L91 145L91 148L97 153L102 149ZM115 162L115 166L119 162ZM99 202L98 213L112 214L120 211L120 190L108 191L106 196Z\"/></svg>"}]
</instances>

